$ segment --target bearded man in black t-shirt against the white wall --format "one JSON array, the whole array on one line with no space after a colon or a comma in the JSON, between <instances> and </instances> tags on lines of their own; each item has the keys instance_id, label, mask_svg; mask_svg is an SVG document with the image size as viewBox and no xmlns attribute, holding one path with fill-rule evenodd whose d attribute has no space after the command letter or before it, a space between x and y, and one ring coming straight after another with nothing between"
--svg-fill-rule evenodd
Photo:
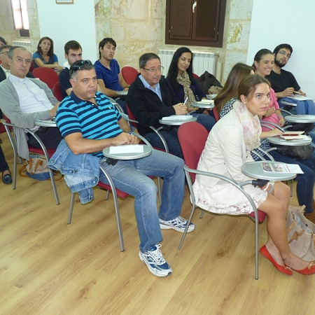
<instances>
[{"instance_id":1,"label":"bearded man in black t-shirt against the white wall","mask_svg":"<svg viewBox=\"0 0 315 315\"><path fill-rule=\"evenodd\" d=\"M294 92L306 96L306 94L301 91L300 85L298 85L293 74L282 69L290 59L292 52L293 48L287 43L277 45L276 48L274 48L274 66L270 75L266 76L266 78L270 79L272 88L274 92L276 92L278 99L288 97Z\"/></svg>"}]
</instances>

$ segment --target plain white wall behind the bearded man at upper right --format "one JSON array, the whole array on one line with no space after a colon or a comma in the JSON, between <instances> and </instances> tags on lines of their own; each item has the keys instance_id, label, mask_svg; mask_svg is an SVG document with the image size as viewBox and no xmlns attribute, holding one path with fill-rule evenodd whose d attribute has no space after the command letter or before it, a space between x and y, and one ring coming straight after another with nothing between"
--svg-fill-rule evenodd
<instances>
[{"instance_id":1,"label":"plain white wall behind the bearded man at upper right","mask_svg":"<svg viewBox=\"0 0 315 315\"><path fill-rule=\"evenodd\" d=\"M292 72L301 90L315 99L315 1L253 0L247 64L258 50L273 51L289 43L293 54L283 68Z\"/></svg>"}]
</instances>

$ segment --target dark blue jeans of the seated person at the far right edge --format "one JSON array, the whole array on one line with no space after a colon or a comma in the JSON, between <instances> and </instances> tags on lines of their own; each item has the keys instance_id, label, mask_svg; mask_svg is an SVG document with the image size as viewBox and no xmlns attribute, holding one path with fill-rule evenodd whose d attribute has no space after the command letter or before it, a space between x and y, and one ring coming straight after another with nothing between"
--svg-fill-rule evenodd
<instances>
[{"instance_id":1,"label":"dark blue jeans of the seated person at the far right edge","mask_svg":"<svg viewBox=\"0 0 315 315\"><path fill-rule=\"evenodd\" d=\"M313 190L315 182L315 155L311 155L311 158L307 160L293 160L288 156L281 155L276 151L269 152L275 161L297 164L300 166L304 174L297 174L295 181L297 181L296 194L297 200L302 206L305 205L305 213L311 214L314 211L311 201L314 199Z\"/></svg>"}]
</instances>

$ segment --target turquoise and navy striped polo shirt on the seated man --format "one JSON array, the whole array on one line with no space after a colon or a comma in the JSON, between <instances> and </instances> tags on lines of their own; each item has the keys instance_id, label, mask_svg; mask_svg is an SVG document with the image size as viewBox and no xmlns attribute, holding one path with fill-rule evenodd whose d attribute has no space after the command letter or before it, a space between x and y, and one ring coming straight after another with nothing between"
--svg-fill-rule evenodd
<instances>
[{"instance_id":1,"label":"turquoise and navy striped polo shirt on the seated man","mask_svg":"<svg viewBox=\"0 0 315 315\"><path fill-rule=\"evenodd\" d=\"M120 113L109 99L96 92L97 106L90 101L79 99L72 91L59 105L56 124L62 137L80 132L85 139L108 139L117 137L123 130L118 125ZM102 157L102 151L92 153Z\"/></svg>"}]
</instances>

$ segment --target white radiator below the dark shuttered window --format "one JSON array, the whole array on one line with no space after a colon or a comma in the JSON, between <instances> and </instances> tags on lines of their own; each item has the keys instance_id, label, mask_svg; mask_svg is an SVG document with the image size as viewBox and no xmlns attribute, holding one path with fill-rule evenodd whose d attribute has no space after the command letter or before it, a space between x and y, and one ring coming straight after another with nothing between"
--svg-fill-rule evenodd
<instances>
[{"instance_id":1,"label":"white radiator below the dark shuttered window","mask_svg":"<svg viewBox=\"0 0 315 315\"><path fill-rule=\"evenodd\" d=\"M162 72L163 76L167 76L167 71L169 71L169 64L171 64L172 57L175 50L159 50L159 57L161 59L161 64L164 66ZM193 51L193 73L201 76L204 71L216 76L216 65L218 62L218 54L215 52L198 52Z\"/></svg>"}]
</instances>

